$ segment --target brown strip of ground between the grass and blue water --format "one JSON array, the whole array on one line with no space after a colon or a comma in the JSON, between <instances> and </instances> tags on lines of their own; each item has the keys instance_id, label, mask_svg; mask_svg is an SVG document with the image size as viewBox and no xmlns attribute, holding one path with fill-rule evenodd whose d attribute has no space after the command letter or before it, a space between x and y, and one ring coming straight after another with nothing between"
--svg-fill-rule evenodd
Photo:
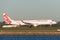
<instances>
[{"instance_id":1,"label":"brown strip of ground between the grass and blue water","mask_svg":"<svg viewBox=\"0 0 60 40\"><path fill-rule=\"evenodd\" d=\"M0 36L60 36L60 31L57 30L0 30Z\"/></svg>"}]
</instances>

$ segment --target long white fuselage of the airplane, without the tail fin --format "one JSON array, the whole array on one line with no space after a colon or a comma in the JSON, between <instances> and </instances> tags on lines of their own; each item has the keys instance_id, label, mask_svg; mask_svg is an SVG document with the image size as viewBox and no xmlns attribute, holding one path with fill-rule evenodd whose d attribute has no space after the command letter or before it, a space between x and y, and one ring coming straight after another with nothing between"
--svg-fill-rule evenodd
<instances>
[{"instance_id":1,"label":"long white fuselage of the airplane, without the tail fin","mask_svg":"<svg viewBox=\"0 0 60 40\"><path fill-rule=\"evenodd\" d=\"M28 23L32 24L33 26L57 24L53 20L23 20L23 22L21 20L20 21L12 21L12 24L18 24L18 25L27 25Z\"/></svg>"}]
</instances>

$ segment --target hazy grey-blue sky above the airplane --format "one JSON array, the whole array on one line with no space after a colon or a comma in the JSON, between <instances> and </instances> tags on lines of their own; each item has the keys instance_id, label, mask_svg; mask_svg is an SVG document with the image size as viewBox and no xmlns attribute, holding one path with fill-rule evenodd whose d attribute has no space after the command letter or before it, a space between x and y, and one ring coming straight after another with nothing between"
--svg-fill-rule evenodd
<instances>
[{"instance_id":1,"label":"hazy grey-blue sky above the airplane","mask_svg":"<svg viewBox=\"0 0 60 40\"><path fill-rule=\"evenodd\" d=\"M4 20L3 13L14 20L60 21L60 0L0 0L0 21Z\"/></svg>"}]
</instances>

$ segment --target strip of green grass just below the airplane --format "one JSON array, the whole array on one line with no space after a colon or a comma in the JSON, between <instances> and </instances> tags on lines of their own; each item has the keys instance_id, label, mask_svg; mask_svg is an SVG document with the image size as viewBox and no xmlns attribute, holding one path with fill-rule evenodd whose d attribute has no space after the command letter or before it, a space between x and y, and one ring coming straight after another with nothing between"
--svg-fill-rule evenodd
<instances>
[{"instance_id":1,"label":"strip of green grass just below the airplane","mask_svg":"<svg viewBox=\"0 0 60 40\"><path fill-rule=\"evenodd\" d=\"M28 28L28 27L21 27L21 28L0 28L0 30L57 30L60 27L37 27L37 28Z\"/></svg>"}]
</instances>

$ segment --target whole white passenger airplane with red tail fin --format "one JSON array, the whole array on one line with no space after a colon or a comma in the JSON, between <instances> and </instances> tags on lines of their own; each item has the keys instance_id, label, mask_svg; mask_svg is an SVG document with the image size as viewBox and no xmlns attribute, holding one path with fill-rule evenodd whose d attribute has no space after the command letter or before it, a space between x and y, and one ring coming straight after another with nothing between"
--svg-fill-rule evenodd
<instances>
[{"instance_id":1,"label":"whole white passenger airplane with red tail fin","mask_svg":"<svg viewBox=\"0 0 60 40\"><path fill-rule=\"evenodd\" d=\"M57 24L54 20L12 20L6 13L3 13L4 21L7 24L12 24L12 25L32 25L34 27L37 27L39 25L53 25Z\"/></svg>"}]
</instances>

